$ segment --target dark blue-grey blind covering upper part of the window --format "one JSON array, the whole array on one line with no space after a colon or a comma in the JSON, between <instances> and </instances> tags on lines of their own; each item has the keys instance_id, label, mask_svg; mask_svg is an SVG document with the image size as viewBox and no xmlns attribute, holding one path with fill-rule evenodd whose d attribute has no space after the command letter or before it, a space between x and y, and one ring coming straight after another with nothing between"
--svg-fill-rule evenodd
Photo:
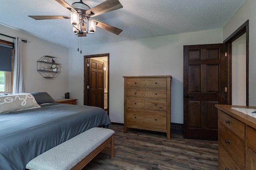
<instances>
[{"instance_id":1,"label":"dark blue-grey blind covering upper part of the window","mask_svg":"<svg viewBox=\"0 0 256 170\"><path fill-rule=\"evenodd\" d=\"M12 48L0 43L0 71L12 71Z\"/></svg>"}]
</instances>

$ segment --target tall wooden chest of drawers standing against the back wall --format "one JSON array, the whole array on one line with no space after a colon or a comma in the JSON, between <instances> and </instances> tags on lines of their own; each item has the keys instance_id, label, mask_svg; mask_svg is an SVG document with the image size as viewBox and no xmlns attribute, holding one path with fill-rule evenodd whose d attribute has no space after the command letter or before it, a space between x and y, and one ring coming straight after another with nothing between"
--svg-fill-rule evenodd
<instances>
[{"instance_id":1,"label":"tall wooden chest of drawers standing against the back wall","mask_svg":"<svg viewBox=\"0 0 256 170\"><path fill-rule=\"evenodd\" d=\"M166 132L170 140L171 75L124 76L124 133L127 128Z\"/></svg>"}]
</instances>

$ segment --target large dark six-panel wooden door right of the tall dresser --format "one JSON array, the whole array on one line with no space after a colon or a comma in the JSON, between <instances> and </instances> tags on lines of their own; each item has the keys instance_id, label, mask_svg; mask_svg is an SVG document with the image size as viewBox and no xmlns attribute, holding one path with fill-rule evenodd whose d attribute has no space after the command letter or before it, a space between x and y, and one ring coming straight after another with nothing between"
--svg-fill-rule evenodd
<instances>
[{"instance_id":1,"label":"large dark six-panel wooden door right of the tall dresser","mask_svg":"<svg viewBox=\"0 0 256 170\"><path fill-rule=\"evenodd\" d=\"M184 46L184 138L218 140L218 111L226 101L224 44Z\"/></svg>"}]
</instances>

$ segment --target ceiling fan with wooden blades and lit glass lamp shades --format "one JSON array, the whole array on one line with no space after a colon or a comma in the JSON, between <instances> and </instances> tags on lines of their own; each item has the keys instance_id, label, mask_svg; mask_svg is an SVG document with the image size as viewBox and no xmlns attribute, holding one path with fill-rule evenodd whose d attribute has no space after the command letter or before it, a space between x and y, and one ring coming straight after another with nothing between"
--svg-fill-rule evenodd
<instances>
[{"instance_id":1,"label":"ceiling fan with wooden blades and lit glass lamp shades","mask_svg":"<svg viewBox=\"0 0 256 170\"><path fill-rule=\"evenodd\" d=\"M70 16L29 16L35 20L51 20L51 19L71 19L73 31L78 37L85 37L86 34L94 34L96 26L119 35L123 30L104 24L96 20L89 20L90 17L98 16L106 12L118 10L123 8L122 4L118 0L106 0L101 4L90 8L84 4L82 0L80 2L74 2L71 6L64 0L56 0L59 4L71 11ZM88 22L87 22L88 21ZM86 29L87 28L87 29Z\"/></svg>"}]
</instances>

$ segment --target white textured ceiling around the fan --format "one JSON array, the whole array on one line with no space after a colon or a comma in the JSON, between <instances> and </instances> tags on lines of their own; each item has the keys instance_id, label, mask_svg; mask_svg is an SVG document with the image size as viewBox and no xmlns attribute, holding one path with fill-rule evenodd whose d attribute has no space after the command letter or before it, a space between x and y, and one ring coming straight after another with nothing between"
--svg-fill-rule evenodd
<instances>
[{"instance_id":1,"label":"white textured ceiling around the fan","mask_svg":"<svg viewBox=\"0 0 256 170\"><path fill-rule=\"evenodd\" d=\"M66 0L70 5L78 1ZM104 1L83 0L90 8ZM222 28L246 0L119 1L123 8L93 19L120 28L123 32L117 36L96 27L95 34L82 37L83 45ZM70 11L55 0L1 0L0 2L0 23L65 47L77 47L78 38L72 31L69 19L34 20L28 17L28 15L70 16Z\"/></svg>"}]
</instances>

